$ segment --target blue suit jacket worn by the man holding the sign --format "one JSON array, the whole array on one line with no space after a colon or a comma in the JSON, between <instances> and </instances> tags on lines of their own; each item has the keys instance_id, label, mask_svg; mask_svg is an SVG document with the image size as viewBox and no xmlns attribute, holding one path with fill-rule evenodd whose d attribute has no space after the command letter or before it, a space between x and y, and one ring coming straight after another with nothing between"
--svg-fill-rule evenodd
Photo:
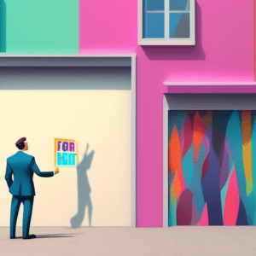
<instances>
[{"instance_id":1,"label":"blue suit jacket worn by the man holding the sign","mask_svg":"<svg viewBox=\"0 0 256 256\"><path fill-rule=\"evenodd\" d=\"M52 177L54 172L40 172L35 158L22 151L7 159L5 179L12 195L36 195L33 174L36 172L40 177ZM14 175L14 180L12 179Z\"/></svg>"}]
</instances>

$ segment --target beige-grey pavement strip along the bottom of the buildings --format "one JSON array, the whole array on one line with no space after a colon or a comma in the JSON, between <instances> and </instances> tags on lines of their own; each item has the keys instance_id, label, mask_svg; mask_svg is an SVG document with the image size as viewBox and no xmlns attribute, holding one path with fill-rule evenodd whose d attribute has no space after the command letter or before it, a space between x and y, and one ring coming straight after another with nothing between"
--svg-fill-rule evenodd
<instances>
[{"instance_id":1,"label":"beige-grey pavement strip along the bottom of the buildings","mask_svg":"<svg viewBox=\"0 0 256 256\"><path fill-rule=\"evenodd\" d=\"M31 227L31 234L38 238L11 240L9 228L1 227L0 255L256 255L256 226Z\"/></svg>"}]
</instances>

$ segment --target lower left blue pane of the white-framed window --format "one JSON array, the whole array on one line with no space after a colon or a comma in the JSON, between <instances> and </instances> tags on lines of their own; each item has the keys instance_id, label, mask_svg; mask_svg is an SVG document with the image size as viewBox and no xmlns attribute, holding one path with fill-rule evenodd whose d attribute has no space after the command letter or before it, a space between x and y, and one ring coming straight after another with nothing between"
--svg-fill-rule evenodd
<instances>
[{"instance_id":1,"label":"lower left blue pane of the white-framed window","mask_svg":"<svg viewBox=\"0 0 256 256\"><path fill-rule=\"evenodd\" d=\"M164 14L144 14L143 38L165 38Z\"/></svg>"}]
</instances>

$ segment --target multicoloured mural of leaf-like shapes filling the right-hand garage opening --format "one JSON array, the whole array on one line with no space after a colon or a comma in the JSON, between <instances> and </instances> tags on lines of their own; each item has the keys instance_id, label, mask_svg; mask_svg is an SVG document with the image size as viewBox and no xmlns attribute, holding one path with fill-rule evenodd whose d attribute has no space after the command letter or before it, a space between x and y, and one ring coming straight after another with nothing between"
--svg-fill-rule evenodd
<instances>
[{"instance_id":1,"label":"multicoloured mural of leaf-like shapes filling the right-hand garage opening","mask_svg":"<svg viewBox=\"0 0 256 256\"><path fill-rule=\"evenodd\" d=\"M169 226L256 224L255 116L169 110Z\"/></svg>"}]
</instances>

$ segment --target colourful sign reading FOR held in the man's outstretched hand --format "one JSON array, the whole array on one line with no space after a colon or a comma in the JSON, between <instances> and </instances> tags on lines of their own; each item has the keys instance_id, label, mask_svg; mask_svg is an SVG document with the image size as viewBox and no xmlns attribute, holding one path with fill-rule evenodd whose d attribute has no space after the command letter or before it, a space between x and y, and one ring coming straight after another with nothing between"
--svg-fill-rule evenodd
<instances>
[{"instance_id":1,"label":"colourful sign reading FOR held in the man's outstretched hand","mask_svg":"<svg viewBox=\"0 0 256 256\"><path fill-rule=\"evenodd\" d=\"M55 138L55 166L74 167L78 164L78 143L75 140Z\"/></svg>"}]
</instances>

